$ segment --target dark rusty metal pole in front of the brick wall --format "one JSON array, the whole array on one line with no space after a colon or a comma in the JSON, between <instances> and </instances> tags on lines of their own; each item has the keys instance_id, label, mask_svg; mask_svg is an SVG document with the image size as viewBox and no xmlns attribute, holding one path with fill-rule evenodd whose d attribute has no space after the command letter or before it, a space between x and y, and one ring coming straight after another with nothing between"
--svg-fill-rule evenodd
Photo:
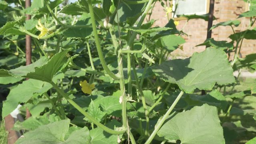
<instances>
[{"instance_id":1,"label":"dark rusty metal pole in front of the brick wall","mask_svg":"<svg viewBox=\"0 0 256 144\"><path fill-rule=\"evenodd\" d=\"M210 0L207 37L206 38L212 38L212 30L210 30L210 28L212 27L213 12L214 12L214 0ZM202 90L201 95L205 95L205 94L206 94L205 90Z\"/></svg>"}]
</instances>

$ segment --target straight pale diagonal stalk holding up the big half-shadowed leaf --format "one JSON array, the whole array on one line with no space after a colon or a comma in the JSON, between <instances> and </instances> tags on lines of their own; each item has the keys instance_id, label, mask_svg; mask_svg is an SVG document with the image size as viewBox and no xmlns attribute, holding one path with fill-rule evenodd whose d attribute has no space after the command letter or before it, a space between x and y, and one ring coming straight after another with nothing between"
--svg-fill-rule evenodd
<instances>
[{"instance_id":1,"label":"straight pale diagonal stalk holding up the big half-shadowed leaf","mask_svg":"<svg viewBox=\"0 0 256 144\"><path fill-rule=\"evenodd\" d=\"M168 109L168 111L164 114L163 118L160 120L160 122L155 126L154 131L152 132L152 134L150 135L150 137L148 138L148 140L145 142L145 144L150 144L150 142L152 142L153 138L156 136L156 133L158 132L158 130L161 128L161 126L164 124L164 121L168 118L169 114L172 112L172 110L174 109L174 107L176 106L176 104L178 103L178 101L180 100L181 96L184 94L184 91L182 90L180 92L180 94L177 96L177 98L174 100L174 102L172 103L172 106L170 106L170 108Z\"/></svg>"}]
</instances>

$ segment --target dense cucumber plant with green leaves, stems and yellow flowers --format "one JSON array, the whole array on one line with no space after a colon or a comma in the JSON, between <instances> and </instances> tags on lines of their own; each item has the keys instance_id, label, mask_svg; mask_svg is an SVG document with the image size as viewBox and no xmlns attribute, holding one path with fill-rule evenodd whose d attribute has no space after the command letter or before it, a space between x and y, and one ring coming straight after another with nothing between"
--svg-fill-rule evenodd
<instances>
[{"instance_id":1,"label":"dense cucumber plant with green leaves, stems and yellow flowers","mask_svg":"<svg viewBox=\"0 0 256 144\"><path fill-rule=\"evenodd\" d=\"M17 144L255 142L256 81L239 78L242 69L256 70L256 54L239 57L244 39L256 38L254 0L239 16L250 18L245 31L234 31L240 20L212 27L232 28L230 42L207 39L198 45L203 52L172 60L186 33L169 18L176 9L168 0L164 27L150 18L158 0L62 2L1 2L0 90L8 94L2 118L18 104L32 114L14 125L24 131ZM26 34L32 64L22 66Z\"/></svg>"}]
</instances>

